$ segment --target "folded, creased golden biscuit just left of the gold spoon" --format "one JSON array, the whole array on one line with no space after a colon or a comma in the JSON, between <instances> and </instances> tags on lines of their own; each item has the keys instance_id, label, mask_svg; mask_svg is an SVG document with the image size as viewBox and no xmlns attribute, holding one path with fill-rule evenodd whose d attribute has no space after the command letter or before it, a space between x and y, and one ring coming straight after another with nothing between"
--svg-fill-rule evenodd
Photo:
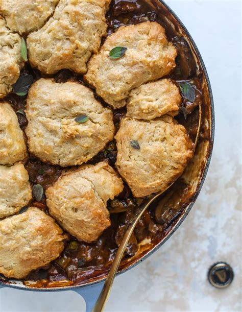
<instances>
[{"instance_id":1,"label":"folded, creased golden biscuit just left of the gold spoon","mask_svg":"<svg viewBox=\"0 0 242 312\"><path fill-rule=\"evenodd\" d=\"M51 215L79 241L91 243L111 224L106 202L123 190L123 181L106 162L64 173L45 191Z\"/></svg>"}]
</instances>

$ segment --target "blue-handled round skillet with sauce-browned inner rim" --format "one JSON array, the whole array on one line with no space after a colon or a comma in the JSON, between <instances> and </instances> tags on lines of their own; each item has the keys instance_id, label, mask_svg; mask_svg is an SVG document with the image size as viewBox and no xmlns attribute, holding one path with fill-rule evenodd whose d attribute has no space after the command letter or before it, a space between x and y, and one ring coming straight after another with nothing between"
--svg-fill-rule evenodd
<instances>
[{"instance_id":1,"label":"blue-handled round skillet with sauce-browned inner rim","mask_svg":"<svg viewBox=\"0 0 242 312\"><path fill-rule=\"evenodd\" d=\"M138 265L141 261L150 256L155 252L168 238L176 231L186 215L195 203L200 190L202 188L204 179L206 177L208 166L211 158L213 139L214 139L214 108L212 90L209 83L209 78L202 57L198 51L198 48L191 38L190 34L184 27L183 23L176 16L176 14L162 1L162 0L145 0L146 3L153 8L158 15L163 16L163 20L167 25L177 33L178 36L184 37L188 42L192 51L193 57L197 63L197 73L200 73L202 77L202 93L203 93L203 117L202 117L202 133L201 138L198 142L198 146L192 160L186 167L185 172L182 175L182 179L186 181L188 189L186 190L186 196L184 195L183 189L179 191L179 181L175 182L174 185L166 191L162 199L156 202L153 209L162 207L165 205L180 205L182 203L182 212L178 214L176 220L166 230L163 237L157 240L157 242L144 244L140 246L139 251L129 259L124 259L119 267L118 274L124 273L134 266ZM78 282L74 286L68 285L65 282L55 283L53 286L38 287L37 284L31 284L31 281L16 281L8 280L4 277L0 277L0 288L1 287L12 287L20 290L30 291L67 291L72 290L82 295L87 304L87 311L90 311L93 307L95 300L98 298L100 291L103 286L105 276L95 276L88 282Z\"/></svg>"}]
</instances>

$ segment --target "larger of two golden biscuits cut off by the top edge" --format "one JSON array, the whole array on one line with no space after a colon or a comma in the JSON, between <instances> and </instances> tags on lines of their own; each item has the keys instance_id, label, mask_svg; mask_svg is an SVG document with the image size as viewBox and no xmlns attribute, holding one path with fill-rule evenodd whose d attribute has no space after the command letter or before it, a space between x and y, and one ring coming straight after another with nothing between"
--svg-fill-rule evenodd
<instances>
[{"instance_id":1,"label":"larger of two golden biscuits cut off by the top edge","mask_svg":"<svg viewBox=\"0 0 242 312\"><path fill-rule=\"evenodd\" d=\"M87 71L86 63L99 50L106 34L110 0L60 0L53 17L28 36L29 61L45 74L62 68Z\"/></svg>"}]
</instances>

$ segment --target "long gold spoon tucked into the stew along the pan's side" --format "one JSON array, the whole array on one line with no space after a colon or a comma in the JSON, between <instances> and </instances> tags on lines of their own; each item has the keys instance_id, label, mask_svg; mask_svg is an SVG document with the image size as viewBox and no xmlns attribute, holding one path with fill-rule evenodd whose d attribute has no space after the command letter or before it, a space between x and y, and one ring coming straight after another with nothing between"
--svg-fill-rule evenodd
<instances>
[{"instance_id":1,"label":"long gold spoon tucked into the stew along the pan's side","mask_svg":"<svg viewBox=\"0 0 242 312\"><path fill-rule=\"evenodd\" d=\"M198 132L196 135L196 140L194 143L194 151L196 149L197 143L198 143L198 139L199 139L199 133L201 130L201 122L202 122L202 107L201 107L201 103L199 103L199 123L198 123ZM174 181L175 182L175 181ZM155 196L153 196L151 199L146 199L144 200L140 207L136 210L135 212L135 216L133 218L133 222L131 223L131 225L128 227L127 231L125 232L125 235L122 239L121 244L118 247L117 253L114 257L114 260L112 262L110 271L108 273L107 279L104 283L103 289L99 295L98 300L96 300L96 303L93 307L92 312L102 312L104 310L104 307L107 303L109 294L111 292L111 288L112 288L112 284L113 284L113 280L114 277L117 273L117 269L119 267L120 261L123 258L126 246L129 242L129 239L133 233L133 230L135 229L135 226L137 225L139 219L142 217L142 214L144 213L144 211L146 211L146 209L154 202L155 199L157 199L161 194L163 194L168 188L170 188L173 184L170 184L166 189L160 191L159 193L157 193Z\"/></svg>"}]
</instances>

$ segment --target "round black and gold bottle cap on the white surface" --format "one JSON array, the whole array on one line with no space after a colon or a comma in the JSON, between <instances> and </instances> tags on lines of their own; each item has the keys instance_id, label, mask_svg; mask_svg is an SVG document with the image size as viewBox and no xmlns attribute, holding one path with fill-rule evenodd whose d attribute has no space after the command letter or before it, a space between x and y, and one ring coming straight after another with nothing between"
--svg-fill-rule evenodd
<instances>
[{"instance_id":1,"label":"round black and gold bottle cap on the white surface","mask_svg":"<svg viewBox=\"0 0 242 312\"><path fill-rule=\"evenodd\" d=\"M208 280L216 288L228 287L233 278L233 270L226 262L216 262L208 271Z\"/></svg>"}]
</instances>

